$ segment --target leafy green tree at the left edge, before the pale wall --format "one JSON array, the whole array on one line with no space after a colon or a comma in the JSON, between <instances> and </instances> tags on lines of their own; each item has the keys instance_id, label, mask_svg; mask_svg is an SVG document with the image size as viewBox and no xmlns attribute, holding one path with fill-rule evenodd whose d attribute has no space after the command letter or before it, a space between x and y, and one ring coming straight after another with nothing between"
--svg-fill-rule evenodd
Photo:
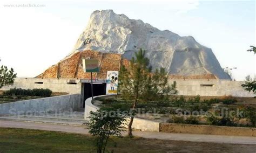
<instances>
[{"instance_id":1,"label":"leafy green tree at the left edge, before the pale wall","mask_svg":"<svg viewBox=\"0 0 256 153\"><path fill-rule=\"evenodd\" d=\"M16 73L14 73L14 69L11 68L8 70L6 66L1 66L0 69L0 88L6 85L11 85L14 83L14 78L16 78Z\"/></svg>"}]
</instances>

